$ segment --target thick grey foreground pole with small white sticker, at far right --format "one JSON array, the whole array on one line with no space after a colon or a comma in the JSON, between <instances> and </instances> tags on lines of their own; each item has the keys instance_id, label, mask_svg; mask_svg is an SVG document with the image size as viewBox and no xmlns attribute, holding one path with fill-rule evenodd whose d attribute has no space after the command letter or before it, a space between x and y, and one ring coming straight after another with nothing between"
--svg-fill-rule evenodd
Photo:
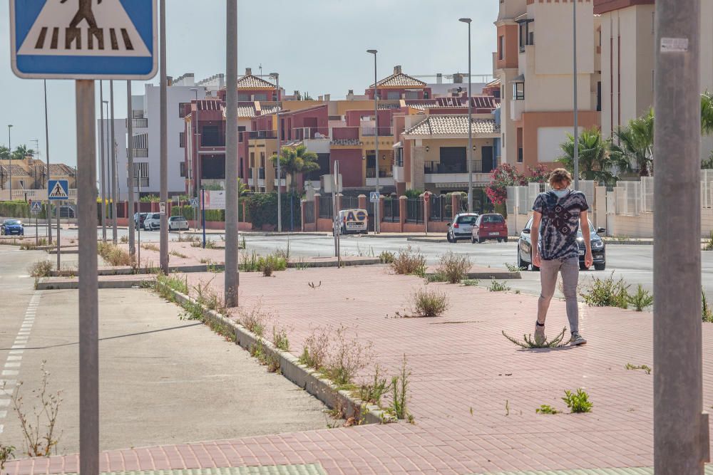
<instances>
[{"instance_id":1,"label":"thick grey foreground pole with small white sticker, at far right","mask_svg":"<svg viewBox=\"0 0 713 475\"><path fill-rule=\"evenodd\" d=\"M657 0L654 470L702 475L700 0ZM672 229L676 229L672 233Z\"/></svg>"}]
</instances>

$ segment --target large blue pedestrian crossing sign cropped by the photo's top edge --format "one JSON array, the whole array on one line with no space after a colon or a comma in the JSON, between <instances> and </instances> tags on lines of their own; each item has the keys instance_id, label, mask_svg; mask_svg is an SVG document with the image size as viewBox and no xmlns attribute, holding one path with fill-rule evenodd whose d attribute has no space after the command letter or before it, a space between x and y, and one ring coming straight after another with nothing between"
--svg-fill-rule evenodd
<instances>
[{"instance_id":1,"label":"large blue pedestrian crossing sign cropped by the photo's top edge","mask_svg":"<svg viewBox=\"0 0 713 475\"><path fill-rule=\"evenodd\" d=\"M10 0L12 70L21 78L153 78L157 1Z\"/></svg>"}]
</instances>

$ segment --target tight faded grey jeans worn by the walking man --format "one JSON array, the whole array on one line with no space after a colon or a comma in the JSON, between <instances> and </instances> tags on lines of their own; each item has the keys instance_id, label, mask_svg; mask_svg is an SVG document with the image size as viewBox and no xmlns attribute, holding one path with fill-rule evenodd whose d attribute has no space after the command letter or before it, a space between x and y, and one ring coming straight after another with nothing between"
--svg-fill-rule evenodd
<instances>
[{"instance_id":1,"label":"tight faded grey jeans worn by the walking man","mask_svg":"<svg viewBox=\"0 0 713 475\"><path fill-rule=\"evenodd\" d=\"M567 302L567 319L570 320L570 332L579 331L579 308L577 303L577 283L579 281L579 258L553 259L552 261L541 261L540 283L542 292L537 306L537 320L545 323L547 309L550 308L550 301L555 294L557 285L557 273L562 274L562 287Z\"/></svg>"}]
</instances>

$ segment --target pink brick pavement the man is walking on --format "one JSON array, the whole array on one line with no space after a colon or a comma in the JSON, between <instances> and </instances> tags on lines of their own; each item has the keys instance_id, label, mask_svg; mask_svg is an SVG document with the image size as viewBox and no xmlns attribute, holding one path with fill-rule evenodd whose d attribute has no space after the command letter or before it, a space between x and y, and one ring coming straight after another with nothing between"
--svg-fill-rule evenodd
<instances>
[{"instance_id":1,"label":"pink brick pavement the man is walking on","mask_svg":"<svg viewBox=\"0 0 713 475\"><path fill-rule=\"evenodd\" d=\"M219 290L221 274L189 274L193 282L210 278ZM319 281L319 288L307 285ZM374 344L375 360L389 374L405 353L415 424L109 451L103 470L319 462L329 474L469 474L653 463L652 375L624 368L627 362L652 365L649 313L583 307L581 330L588 345L519 350L501 330L530 333L533 296L429 284L448 293L451 308L440 318L404 319L388 317L403 311L423 280L392 276L384 267L293 270L273 278L242 273L240 282L243 303L262 296L263 306L292 328L294 354L310 328L341 323L355 326L360 340ZM563 302L553 301L548 333L565 323ZM713 327L704 324L704 407L713 404L712 338ZM590 414L535 414L540 404L566 411L560 397L577 387L585 387L594 403ZM76 469L76 456L9 464L10 474Z\"/></svg>"}]
</instances>

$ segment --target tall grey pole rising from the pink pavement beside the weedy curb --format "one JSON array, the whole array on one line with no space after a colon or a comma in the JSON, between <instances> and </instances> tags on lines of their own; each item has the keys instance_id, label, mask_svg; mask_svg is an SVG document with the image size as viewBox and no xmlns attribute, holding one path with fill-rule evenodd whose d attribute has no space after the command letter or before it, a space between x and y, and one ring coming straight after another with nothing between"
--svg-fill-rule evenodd
<instances>
[{"instance_id":1,"label":"tall grey pole rising from the pink pavement beside the weedy curb","mask_svg":"<svg viewBox=\"0 0 713 475\"><path fill-rule=\"evenodd\" d=\"M225 306L230 308L237 307L240 283L237 266L237 0L226 0L225 4Z\"/></svg>"}]
</instances>

